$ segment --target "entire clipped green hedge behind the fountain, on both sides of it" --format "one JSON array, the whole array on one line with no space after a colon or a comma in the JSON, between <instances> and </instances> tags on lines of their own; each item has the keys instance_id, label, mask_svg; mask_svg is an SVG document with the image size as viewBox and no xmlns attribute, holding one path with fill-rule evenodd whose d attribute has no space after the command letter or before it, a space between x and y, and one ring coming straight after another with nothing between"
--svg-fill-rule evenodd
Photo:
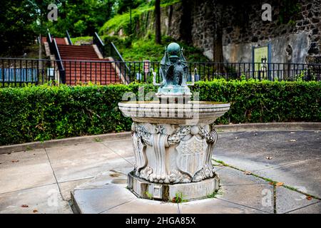
<instances>
[{"instance_id":1,"label":"entire clipped green hedge behind the fountain, on both sides of it","mask_svg":"<svg viewBox=\"0 0 321 228\"><path fill-rule=\"evenodd\" d=\"M123 93L151 85L29 86L0 89L0 145L131 129L117 108ZM200 100L233 105L217 123L321 122L320 82L210 81L192 91Z\"/></svg>"}]
</instances>

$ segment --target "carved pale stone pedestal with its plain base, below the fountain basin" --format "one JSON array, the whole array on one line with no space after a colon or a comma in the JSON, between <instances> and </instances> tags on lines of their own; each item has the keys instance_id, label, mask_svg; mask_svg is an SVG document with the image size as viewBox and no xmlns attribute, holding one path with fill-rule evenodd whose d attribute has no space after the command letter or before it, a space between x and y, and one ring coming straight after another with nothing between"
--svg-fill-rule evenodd
<instances>
[{"instance_id":1,"label":"carved pale stone pedestal with its plain base, below the fountain basin","mask_svg":"<svg viewBox=\"0 0 321 228\"><path fill-rule=\"evenodd\" d=\"M136 162L128 187L139 197L199 199L218 190L211 160L218 137L213 125L134 122L132 133Z\"/></svg>"}]
</instances>

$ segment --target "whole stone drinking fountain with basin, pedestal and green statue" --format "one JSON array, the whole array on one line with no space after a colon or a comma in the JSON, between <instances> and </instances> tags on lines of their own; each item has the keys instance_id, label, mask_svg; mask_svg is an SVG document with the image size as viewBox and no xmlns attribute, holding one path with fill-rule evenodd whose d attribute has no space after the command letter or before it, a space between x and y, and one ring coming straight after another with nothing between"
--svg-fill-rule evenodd
<instances>
[{"instance_id":1,"label":"whole stone drinking fountain with basin, pedestal and green statue","mask_svg":"<svg viewBox=\"0 0 321 228\"><path fill-rule=\"evenodd\" d=\"M146 199L201 199L219 187L212 154L218 134L214 122L230 103L198 101L187 83L188 63L178 43L170 43L161 61L162 83L153 101L118 103L123 115L133 119L134 170L128 188Z\"/></svg>"}]
</instances>

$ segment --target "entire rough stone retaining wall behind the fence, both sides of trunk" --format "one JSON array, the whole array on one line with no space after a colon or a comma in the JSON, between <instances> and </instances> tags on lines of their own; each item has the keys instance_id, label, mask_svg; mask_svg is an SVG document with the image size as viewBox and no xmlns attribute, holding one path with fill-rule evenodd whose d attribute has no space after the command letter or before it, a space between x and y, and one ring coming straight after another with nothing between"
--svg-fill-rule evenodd
<instances>
[{"instance_id":1,"label":"entire rough stone retaining wall behind the fence, both sides of trunk","mask_svg":"<svg viewBox=\"0 0 321 228\"><path fill-rule=\"evenodd\" d=\"M271 62L321 62L321 0L293 0L298 4L295 19L281 23L284 0L247 1L240 5L230 0L183 0L184 3L161 9L162 34L188 41L213 59L217 26L223 28L223 57L228 62L252 62L253 47L270 45ZM264 3L272 6L272 21L263 21ZM189 7L186 16L184 6ZM222 17L220 17L222 16ZM154 31L153 11L142 14L136 26L141 36Z\"/></svg>"}]
</instances>

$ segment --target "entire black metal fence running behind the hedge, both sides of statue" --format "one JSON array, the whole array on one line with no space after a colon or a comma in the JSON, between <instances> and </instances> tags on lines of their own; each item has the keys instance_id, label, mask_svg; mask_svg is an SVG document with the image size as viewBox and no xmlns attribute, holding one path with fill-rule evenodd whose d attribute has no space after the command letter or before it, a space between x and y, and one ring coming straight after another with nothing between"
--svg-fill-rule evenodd
<instances>
[{"instance_id":1,"label":"entire black metal fence running behind the hedge, both sides of statue","mask_svg":"<svg viewBox=\"0 0 321 228\"><path fill-rule=\"evenodd\" d=\"M52 48L55 47L54 41ZM58 56L58 53L56 53ZM195 81L248 80L250 78L269 81L320 81L321 64L304 63L188 63L189 72ZM61 83L152 83L161 82L159 62L148 61L51 61L48 59L0 58L0 86L23 86L43 84L58 80ZM191 74L188 76L191 81Z\"/></svg>"}]
</instances>

